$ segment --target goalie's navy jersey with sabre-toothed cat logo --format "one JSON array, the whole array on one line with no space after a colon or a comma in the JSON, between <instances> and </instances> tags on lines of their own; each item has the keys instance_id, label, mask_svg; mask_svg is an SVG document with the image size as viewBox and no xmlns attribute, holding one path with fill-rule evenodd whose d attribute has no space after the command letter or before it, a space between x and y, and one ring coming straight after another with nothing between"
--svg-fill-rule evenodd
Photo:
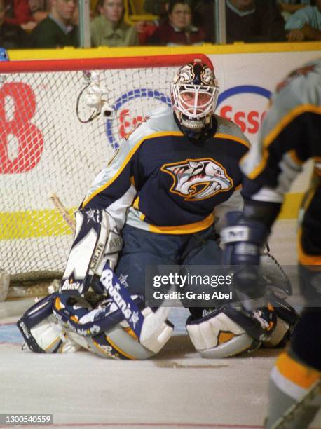
<instances>
[{"instance_id":1,"label":"goalie's navy jersey with sabre-toothed cat logo","mask_svg":"<svg viewBox=\"0 0 321 429\"><path fill-rule=\"evenodd\" d=\"M172 109L158 109L96 177L83 208L107 210L118 229L126 222L155 233L201 231L227 200L239 208L239 162L249 147L225 118L214 115L210 136L196 141L182 133Z\"/></svg>"}]
</instances>

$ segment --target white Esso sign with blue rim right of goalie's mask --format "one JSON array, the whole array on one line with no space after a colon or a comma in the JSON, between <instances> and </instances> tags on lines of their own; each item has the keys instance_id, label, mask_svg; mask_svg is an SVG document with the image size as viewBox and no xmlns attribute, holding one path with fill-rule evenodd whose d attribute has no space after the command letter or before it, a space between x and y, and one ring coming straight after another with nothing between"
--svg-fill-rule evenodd
<instances>
[{"instance_id":1,"label":"white Esso sign with blue rim right of goalie's mask","mask_svg":"<svg viewBox=\"0 0 321 429\"><path fill-rule=\"evenodd\" d=\"M217 112L253 137L259 132L270 97L271 91L261 86L234 86L219 95Z\"/></svg>"}]
</instances>

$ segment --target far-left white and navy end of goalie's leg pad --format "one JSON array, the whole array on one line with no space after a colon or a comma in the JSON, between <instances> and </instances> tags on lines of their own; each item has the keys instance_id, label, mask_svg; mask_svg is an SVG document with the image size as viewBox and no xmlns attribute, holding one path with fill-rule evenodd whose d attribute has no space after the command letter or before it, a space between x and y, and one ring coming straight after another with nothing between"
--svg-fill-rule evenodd
<instances>
[{"instance_id":1,"label":"far-left white and navy end of goalie's leg pad","mask_svg":"<svg viewBox=\"0 0 321 429\"><path fill-rule=\"evenodd\" d=\"M55 294L41 299L17 322L25 343L35 353L72 353L80 348L53 317L54 300Z\"/></svg>"}]
</instances>

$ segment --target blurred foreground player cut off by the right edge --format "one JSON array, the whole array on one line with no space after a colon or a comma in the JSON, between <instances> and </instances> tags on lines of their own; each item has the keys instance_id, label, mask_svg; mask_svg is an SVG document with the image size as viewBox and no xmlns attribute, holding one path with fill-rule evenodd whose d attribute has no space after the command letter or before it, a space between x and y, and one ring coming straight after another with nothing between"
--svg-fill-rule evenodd
<instances>
[{"instance_id":1,"label":"blurred foreground player cut off by the right edge","mask_svg":"<svg viewBox=\"0 0 321 429\"><path fill-rule=\"evenodd\" d=\"M245 264L240 278L247 292L259 296L259 253L280 211L285 193L308 159L313 177L301 208L298 254L301 294L306 308L289 348L271 372L266 428L306 428L320 405L321 378L321 59L289 74L278 86L261 129L261 145L242 160L247 175L243 213L229 214L223 231L226 264ZM247 267L246 267L247 265ZM317 395L317 386L319 394ZM309 389L315 390L299 402ZM310 395L313 397L313 395ZM297 411L295 408L297 407ZM285 417L285 412L292 412ZM274 426L275 425L275 426Z\"/></svg>"}]
</instances>

